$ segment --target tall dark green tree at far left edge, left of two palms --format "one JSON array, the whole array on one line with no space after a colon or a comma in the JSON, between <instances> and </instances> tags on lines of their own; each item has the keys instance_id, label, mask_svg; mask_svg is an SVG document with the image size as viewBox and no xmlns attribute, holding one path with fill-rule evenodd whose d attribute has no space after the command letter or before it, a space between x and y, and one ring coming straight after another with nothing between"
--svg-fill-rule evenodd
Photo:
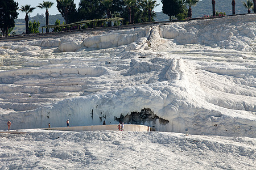
<instances>
[{"instance_id":1,"label":"tall dark green tree at far left edge, left of two palms","mask_svg":"<svg viewBox=\"0 0 256 170\"><path fill-rule=\"evenodd\" d=\"M7 36L9 30L15 27L14 19L18 18L18 2L5 0L0 3L0 29L3 36Z\"/></svg>"}]
</instances>

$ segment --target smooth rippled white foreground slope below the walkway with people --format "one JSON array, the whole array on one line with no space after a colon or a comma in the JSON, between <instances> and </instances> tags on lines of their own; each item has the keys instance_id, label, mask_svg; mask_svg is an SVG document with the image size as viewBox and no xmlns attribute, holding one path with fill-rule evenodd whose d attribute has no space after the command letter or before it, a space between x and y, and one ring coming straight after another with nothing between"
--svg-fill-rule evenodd
<instances>
[{"instance_id":1,"label":"smooth rippled white foreground slope below the walkway with people","mask_svg":"<svg viewBox=\"0 0 256 170\"><path fill-rule=\"evenodd\" d=\"M256 141L167 132L0 133L1 169L256 169Z\"/></svg>"}]
</instances>

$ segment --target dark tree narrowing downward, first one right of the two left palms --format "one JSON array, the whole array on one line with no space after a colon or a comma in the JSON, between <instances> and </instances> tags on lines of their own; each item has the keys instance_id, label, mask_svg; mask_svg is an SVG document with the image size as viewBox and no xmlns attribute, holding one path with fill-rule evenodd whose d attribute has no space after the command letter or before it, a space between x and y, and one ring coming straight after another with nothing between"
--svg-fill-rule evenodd
<instances>
[{"instance_id":1,"label":"dark tree narrowing downward, first one right of the two left palms","mask_svg":"<svg viewBox=\"0 0 256 170\"><path fill-rule=\"evenodd\" d=\"M77 20L76 16L76 4L74 0L56 0L57 9L65 19L66 24L75 22Z\"/></svg>"}]
</instances>

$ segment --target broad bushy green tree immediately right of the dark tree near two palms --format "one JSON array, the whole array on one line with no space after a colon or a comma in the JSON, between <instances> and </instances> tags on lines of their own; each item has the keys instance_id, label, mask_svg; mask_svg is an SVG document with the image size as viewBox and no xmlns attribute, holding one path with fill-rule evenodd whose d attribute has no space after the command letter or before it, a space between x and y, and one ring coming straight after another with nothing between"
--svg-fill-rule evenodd
<instances>
[{"instance_id":1,"label":"broad bushy green tree immediately right of the dark tree near two palms","mask_svg":"<svg viewBox=\"0 0 256 170\"><path fill-rule=\"evenodd\" d=\"M78 13L80 20L101 19L105 13L104 5L101 0L81 0Z\"/></svg>"}]
</instances>

